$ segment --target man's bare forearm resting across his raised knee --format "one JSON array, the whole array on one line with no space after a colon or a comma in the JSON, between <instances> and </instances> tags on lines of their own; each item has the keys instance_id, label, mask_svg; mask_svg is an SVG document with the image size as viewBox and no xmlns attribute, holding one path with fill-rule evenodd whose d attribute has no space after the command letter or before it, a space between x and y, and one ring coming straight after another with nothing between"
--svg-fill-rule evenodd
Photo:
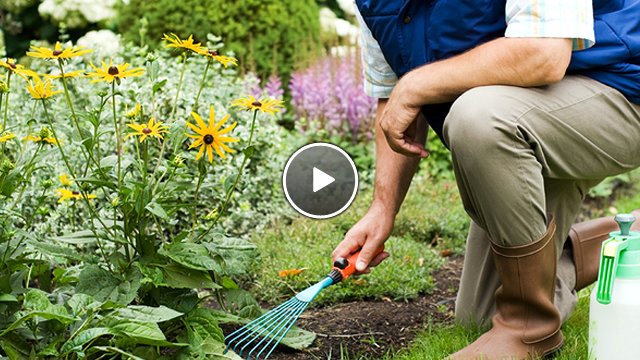
<instances>
[{"instance_id":1,"label":"man's bare forearm resting across his raised knee","mask_svg":"<svg viewBox=\"0 0 640 360\"><path fill-rule=\"evenodd\" d=\"M449 102L478 86L530 87L558 82L570 60L570 39L499 38L424 65L398 85L410 105Z\"/></svg>"}]
</instances>

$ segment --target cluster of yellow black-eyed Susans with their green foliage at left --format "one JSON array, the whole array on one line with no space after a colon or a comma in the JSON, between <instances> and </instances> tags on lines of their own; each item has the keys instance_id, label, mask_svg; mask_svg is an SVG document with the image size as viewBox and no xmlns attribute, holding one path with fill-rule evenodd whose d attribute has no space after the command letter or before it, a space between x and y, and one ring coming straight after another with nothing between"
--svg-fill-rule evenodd
<instances>
[{"instance_id":1,"label":"cluster of yellow black-eyed Susans with their green foliage at left","mask_svg":"<svg viewBox=\"0 0 640 360\"><path fill-rule=\"evenodd\" d=\"M32 47L32 69L0 61L0 355L210 358L219 324L260 314L234 280L256 248L224 229L253 208L243 186L263 187L246 174L288 154L269 144L281 102L239 98L217 48L165 47L178 58L87 66L58 43Z\"/></svg>"}]
</instances>

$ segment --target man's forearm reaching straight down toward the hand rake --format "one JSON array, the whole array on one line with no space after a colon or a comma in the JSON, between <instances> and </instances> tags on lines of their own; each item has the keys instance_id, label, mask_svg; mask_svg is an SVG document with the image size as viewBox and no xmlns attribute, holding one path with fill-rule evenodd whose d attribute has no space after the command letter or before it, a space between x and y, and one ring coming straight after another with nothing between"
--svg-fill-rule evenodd
<instances>
[{"instance_id":1,"label":"man's forearm reaching straight down toward the hand rake","mask_svg":"<svg viewBox=\"0 0 640 360\"><path fill-rule=\"evenodd\" d=\"M395 216L411 185L420 159L398 154L389 147L378 121L386 103L385 99L379 100L376 116L376 175L372 207L378 207ZM418 141L424 143L426 130L426 122L418 121Z\"/></svg>"}]
</instances>

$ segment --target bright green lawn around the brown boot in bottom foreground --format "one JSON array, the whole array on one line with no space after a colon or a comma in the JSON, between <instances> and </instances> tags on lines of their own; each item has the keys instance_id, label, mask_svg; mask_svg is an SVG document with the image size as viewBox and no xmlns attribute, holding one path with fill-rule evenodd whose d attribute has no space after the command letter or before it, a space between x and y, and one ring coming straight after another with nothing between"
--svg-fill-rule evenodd
<instances>
[{"instance_id":1,"label":"bright green lawn around the brown boot in bottom foreground","mask_svg":"<svg viewBox=\"0 0 640 360\"><path fill-rule=\"evenodd\" d=\"M587 358L589 331L589 291L580 293L576 311L562 327L565 343L556 354L555 360L576 360ZM415 339L410 349L388 355L384 360L426 360L443 359L467 344L473 342L481 331L459 325L427 324L426 329Z\"/></svg>"}]
</instances>

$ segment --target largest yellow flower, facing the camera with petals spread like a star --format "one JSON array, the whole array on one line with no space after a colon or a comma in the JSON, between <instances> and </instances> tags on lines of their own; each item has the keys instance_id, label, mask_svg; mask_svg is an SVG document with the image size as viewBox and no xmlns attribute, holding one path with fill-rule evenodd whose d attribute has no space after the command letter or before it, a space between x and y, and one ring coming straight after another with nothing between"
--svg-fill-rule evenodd
<instances>
[{"instance_id":1,"label":"largest yellow flower, facing the camera with petals spread like a star","mask_svg":"<svg viewBox=\"0 0 640 360\"><path fill-rule=\"evenodd\" d=\"M224 136L229 133L236 127L236 123L231 124L226 128L222 128L227 120L229 120L229 115L225 115L218 123L216 123L216 115L215 109L213 105L209 109L209 125L205 125L202 118L196 114L195 112L191 113L191 116L196 120L197 126L187 122L187 126L191 128L197 135L187 134L192 139L196 139L190 146L189 149L193 149L195 147L200 146L200 150L198 151L198 155L196 155L196 160L199 160L204 154L204 151L207 151L207 157L209 158L209 162L213 162L213 150L221 157L225 158L224 152L235 152L230 149L225 143L238 142L238 139L234 139L232 137Z\"/></svg>"}]
</instances>

